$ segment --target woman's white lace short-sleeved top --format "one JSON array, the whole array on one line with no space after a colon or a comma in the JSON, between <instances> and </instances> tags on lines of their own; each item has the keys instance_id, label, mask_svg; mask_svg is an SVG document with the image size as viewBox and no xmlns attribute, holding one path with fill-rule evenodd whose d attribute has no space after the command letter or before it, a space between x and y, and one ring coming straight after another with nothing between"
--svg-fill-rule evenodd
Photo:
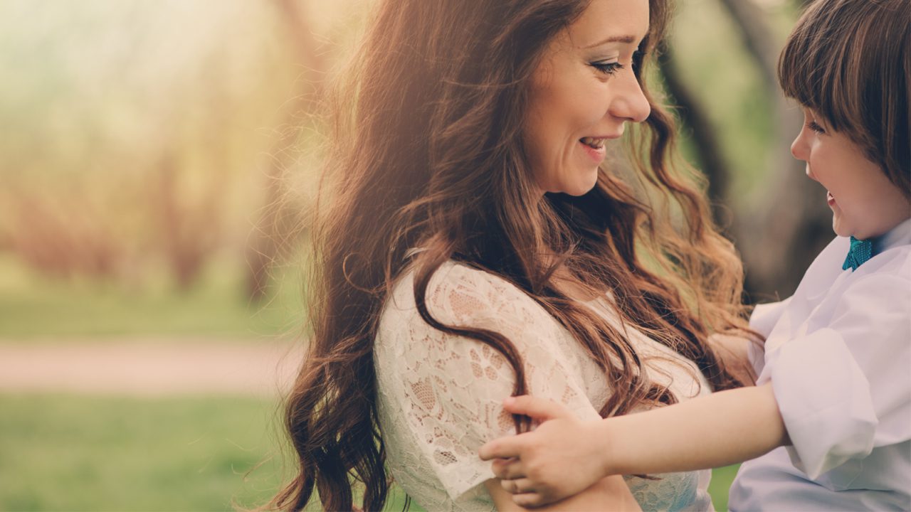
<instances>
[{"instance_id":1,"label":"woman's white lace short-sleeved top","mask_svg":"<svg viewBox=\"0 0 911 512\"><path fill-rule=\"evenodd\" d=\"M415 308L413 273L406 271L384 305L374 346L380 427L389 470L429 511L493 510L483 485L493 477L478 448L515 434L502 400L516 382L512 367L476 340L441 333ZM589 305L619 328L604 301ZM446 262L427 287L438 321L502 333L525 359L529 393L598 419L610 393L607 378L582 346L537 302L485 271ZM709 393L689 360L638 331L626 330L653 381L670 384L679 400ZM711 510L711 472L628 477L643 510Z\"/></svg>"}]
</instances>

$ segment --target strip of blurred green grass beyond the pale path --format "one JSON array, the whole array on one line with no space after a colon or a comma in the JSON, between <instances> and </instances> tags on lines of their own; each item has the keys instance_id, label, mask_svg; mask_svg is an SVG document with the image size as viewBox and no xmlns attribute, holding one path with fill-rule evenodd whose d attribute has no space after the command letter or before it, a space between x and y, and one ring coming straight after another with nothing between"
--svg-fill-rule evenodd
<instances>
[{"instance_id":1,"label":"strip of blurred green grass beyond the pale path","mask_svg":"<svg viewBox=\"0 0 911 512\"><path fill-rule=\"evenodd\" d=\"M0 338L206 336L230 340L298 334L303 324L300 268L274 271L262 302L244 299L243 265L213 261L200 282L177 292L166 275L143 286L56 280L0 253Z\"/></svg>"}]
</instances>

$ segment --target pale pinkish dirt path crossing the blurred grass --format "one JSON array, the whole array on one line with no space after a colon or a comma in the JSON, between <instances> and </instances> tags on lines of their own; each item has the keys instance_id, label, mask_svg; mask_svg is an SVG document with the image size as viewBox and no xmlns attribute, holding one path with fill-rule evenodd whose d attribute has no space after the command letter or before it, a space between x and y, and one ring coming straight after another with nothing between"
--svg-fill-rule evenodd
<instances>
[{"instance_id":1,"label":"pale pinkish dirt path crossing the blurred grass","mask_svg":"<svg viewBox=\"0 0 911 512\"><path fill-rule=\"evenodd\" d=\"M299 344L277 340L0 340L0 393L276 396L301 357Z\"/></svg>"}]
</instances>

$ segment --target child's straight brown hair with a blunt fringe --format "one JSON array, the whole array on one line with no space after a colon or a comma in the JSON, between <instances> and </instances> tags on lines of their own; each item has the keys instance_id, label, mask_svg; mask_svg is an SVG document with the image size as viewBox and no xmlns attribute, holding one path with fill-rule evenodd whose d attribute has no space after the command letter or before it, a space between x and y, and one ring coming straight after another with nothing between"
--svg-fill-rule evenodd
<instances>
[{"instance_id":1,"label":"child's straight brown hair with a blunt fringe","mask_svg":"<svg viewBox=\"0 0 911 512\"><path fill-rule=\"evenodd\" d=\"M817 0L788 37L778 79L911 198L909 28L909 0Z\"/></svg>"}]
</instances>

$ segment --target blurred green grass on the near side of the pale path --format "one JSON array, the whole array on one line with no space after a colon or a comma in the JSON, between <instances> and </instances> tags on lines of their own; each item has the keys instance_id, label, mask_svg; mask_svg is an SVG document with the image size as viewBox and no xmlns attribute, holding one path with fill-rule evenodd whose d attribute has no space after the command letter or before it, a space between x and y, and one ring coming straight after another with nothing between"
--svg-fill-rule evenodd
<instances>
[{"instance_id":1,"label":"blurred green grass on the near side of the pale path","mask_svg":"<svg viewBox=\"0 0 911 512\"><path fill-rule=\"evenodd\" d=\"M0 394L0 410L0 510L253 507L290 460L269 400ZM736 468L713 472L718 510ZM386 509L403 507L395 488Z\"/></svg>"}]
</instances>

